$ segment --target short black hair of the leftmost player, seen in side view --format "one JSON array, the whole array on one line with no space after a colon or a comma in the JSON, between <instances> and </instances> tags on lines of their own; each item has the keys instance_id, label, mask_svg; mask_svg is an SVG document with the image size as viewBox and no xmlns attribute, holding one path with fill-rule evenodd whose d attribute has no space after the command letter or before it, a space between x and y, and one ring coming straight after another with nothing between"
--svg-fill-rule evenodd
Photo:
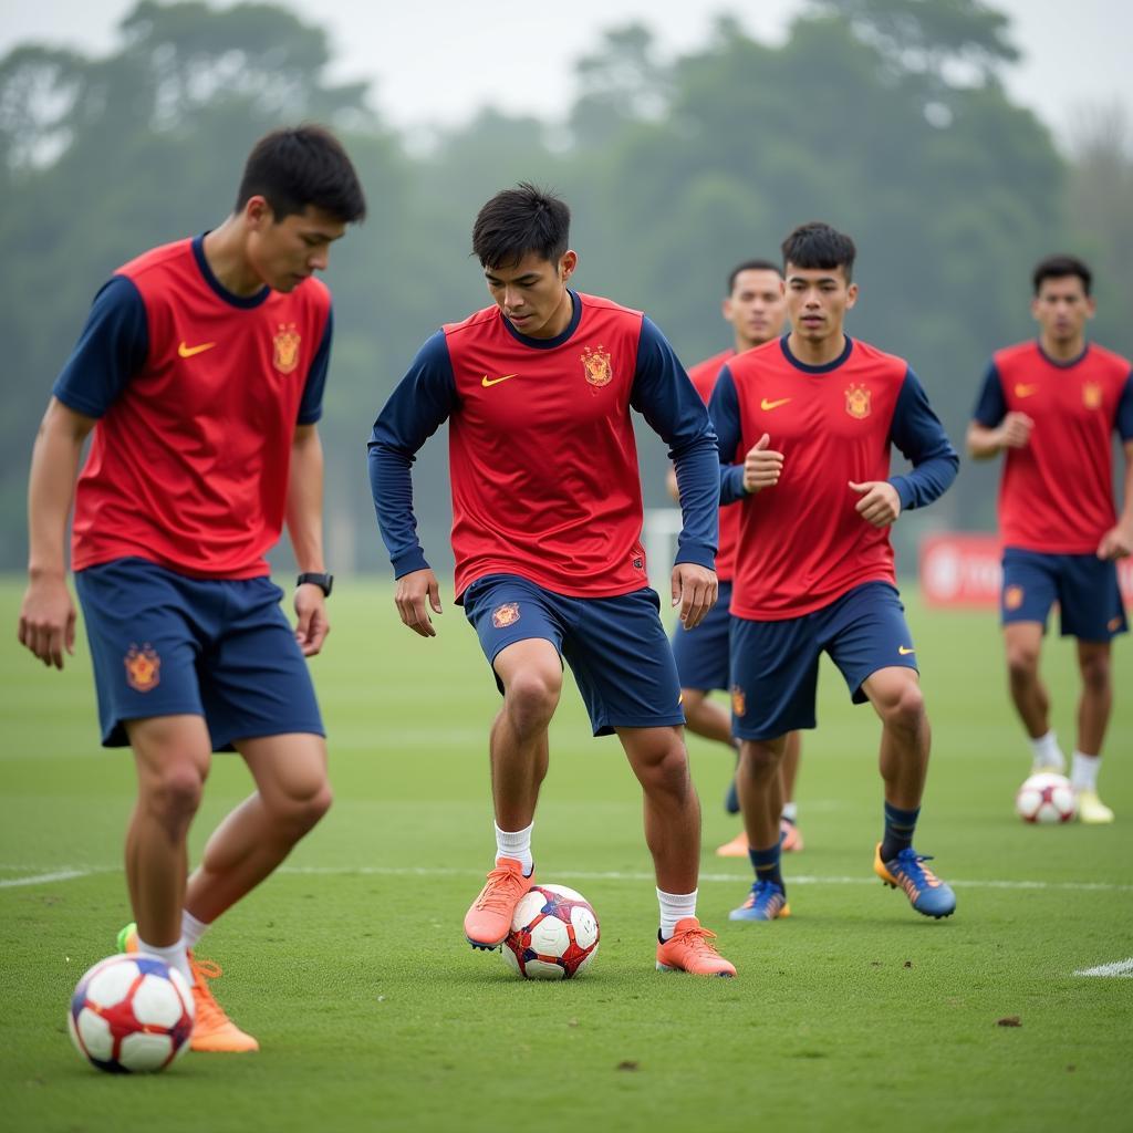
<instances>
[{"instance_id":1,"label":"short black hair of the leftmost player, seen in side view","mask_svg":"<svg viewBox=\"0 0 1133 1133\"><path fill-rule=\"evenodd\" d=\"M366 215L366 197L346 150L330 130L309 123L272 130L255 144L236 211L255 196L271 205L276 223L312 205L348 224Z\"/></svg>"}]
</instances>

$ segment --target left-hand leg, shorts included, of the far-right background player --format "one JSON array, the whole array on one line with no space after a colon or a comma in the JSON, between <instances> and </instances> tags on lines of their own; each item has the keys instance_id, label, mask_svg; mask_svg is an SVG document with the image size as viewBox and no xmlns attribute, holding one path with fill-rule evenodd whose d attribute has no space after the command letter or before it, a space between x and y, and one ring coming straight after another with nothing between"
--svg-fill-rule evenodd
<instances>
[{"instance_id":1,"label":"left-hand leg, shorts included, of the far-right background player","mask_svg":"<svg viewBox=\"0 0 1133 1133\"><path fill-rule=\"evenodd\" d=\"M1050 695L1039 672L1047 616L1057 597L1055 556L1008 547L999 617L1011 699L1031 744L1032 770L1062 772L1066 757L1050 727Z\"/></svg>"}]
</instances>

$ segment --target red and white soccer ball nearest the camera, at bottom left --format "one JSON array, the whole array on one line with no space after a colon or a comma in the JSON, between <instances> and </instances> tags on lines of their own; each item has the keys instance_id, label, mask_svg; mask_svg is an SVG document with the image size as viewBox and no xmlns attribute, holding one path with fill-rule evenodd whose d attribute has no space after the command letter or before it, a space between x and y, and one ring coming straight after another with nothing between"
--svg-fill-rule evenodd
<instances>
[{"instance_id":1,"label":"red and white soccer ball nearest the camera, at bottom left","mask_svg":"<svg viewBox=\"0 0 1133 1133\"><path fill-rule=\"evenodd\" d=\"M71 1041L111 1074L164 1070L189 1048L193 993L185 977L144 953L110 956L83 974L71 996Z\"/></svg>"}]
</instances>

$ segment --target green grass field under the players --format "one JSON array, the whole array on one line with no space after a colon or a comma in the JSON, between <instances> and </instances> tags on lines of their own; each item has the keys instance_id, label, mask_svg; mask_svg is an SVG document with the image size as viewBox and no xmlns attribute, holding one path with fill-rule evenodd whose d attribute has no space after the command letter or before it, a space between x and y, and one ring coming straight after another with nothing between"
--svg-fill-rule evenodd
<instances>
[{"instance_id":1,"label":"green grass field under the players","mask_svg":"<svg viewBox=\"0 0 1133 1133\"><path fill-rule=\"evenodd\" d=\"M871 874L878 726L823 674L786 859L794 915L732 925L747 863L731 766L692 739L704 801L702 920L736 980L654 971L656 898L639 793L614 740L593 740L572 688L553 726L535 829L539 876L602 919L582 978L525 983L474 953L461 918L493 852L486 733L497 707L462 614L433 641L390 590L347 582L314 671L335 804L284 869L199 952L258 1055L189 1055L155 1077L90 1070L66 1036L75 980L129 919L119 867L128 755L103 752L85 641L49 673L14 640L20 587L0 586L0 1127L11 1131L1128 1130L1133 980L1075 976L1133 956L1133 647L1116 649L1102 796L1111 827L1025 827L1028 767L991 614L910 603L935 747L918 847L953 884L946 921ZM1072 647L1046 668L1073 744ZM198 850L248 791L214 764ZM1017 1017L1021 1025L998 1025Z\"/></svg>"}]
</instances>

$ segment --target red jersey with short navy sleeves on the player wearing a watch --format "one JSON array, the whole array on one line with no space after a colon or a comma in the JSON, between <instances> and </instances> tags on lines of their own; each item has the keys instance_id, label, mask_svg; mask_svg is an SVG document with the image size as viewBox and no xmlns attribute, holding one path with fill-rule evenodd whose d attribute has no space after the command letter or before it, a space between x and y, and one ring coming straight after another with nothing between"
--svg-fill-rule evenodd
<instances>
[{"instance_id":1,"label":"red jersey with short navy sleeves on the player wearing a watch","mask_svg":"<svg viewBox=\"0 0 1133 1133\"><path fill-rule=\"evenodd\" d=\"M296 424L322 414L330 292L227 291L204 238L120 267L53 393L96 417L78 479L75 570L136 556L197 578L267 573Z\"/></svg>"}]
</instances>

